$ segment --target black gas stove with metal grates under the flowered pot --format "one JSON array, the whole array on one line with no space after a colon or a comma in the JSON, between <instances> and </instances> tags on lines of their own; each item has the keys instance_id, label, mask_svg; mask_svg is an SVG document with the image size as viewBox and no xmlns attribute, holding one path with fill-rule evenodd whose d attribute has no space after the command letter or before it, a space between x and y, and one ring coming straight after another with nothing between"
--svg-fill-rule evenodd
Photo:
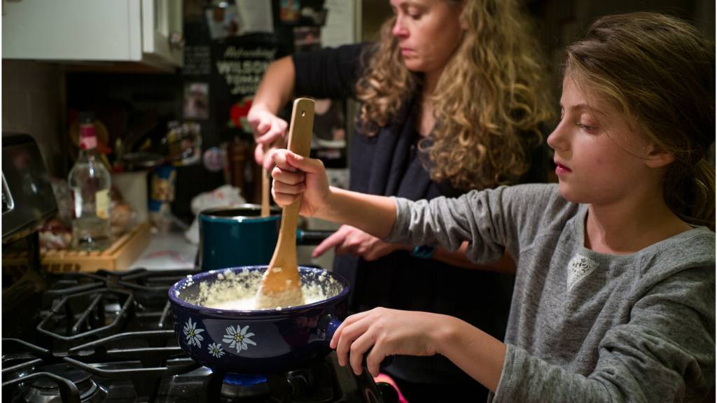
<instances>
[{"instance_id":1,"label":"black gas stove with metal grates under the flowered pot","mask_svg":"<svg viewBox=\"0 0 717 403\"><path fill-rule=\"evenodd\" d=\"M167 298L194 270L29 272L32 280L3 290L6 402L397 401L368 371L338 366L334 353L278 374L199 366L176 342Z\"/></svg>"}]
</instances>

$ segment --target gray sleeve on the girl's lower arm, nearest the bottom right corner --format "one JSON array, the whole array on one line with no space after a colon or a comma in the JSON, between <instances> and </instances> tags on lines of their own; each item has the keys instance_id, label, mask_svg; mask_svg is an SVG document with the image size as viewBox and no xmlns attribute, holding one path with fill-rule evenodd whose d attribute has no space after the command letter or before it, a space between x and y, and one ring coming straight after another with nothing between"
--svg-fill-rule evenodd
<instances>
[{"instance_id":1,"label":"gray sleeve on the girl's lower arm, nearest the bottom right corner","mask_svg":"<svg viewBox=\"0 0 717 403\"><path fill-rule=\"evenodd\" d=\"M508 344L494 403L702 402L714 384L714 267L657 283L614 326L587 376Z\"/></svg>"}]
</instances>

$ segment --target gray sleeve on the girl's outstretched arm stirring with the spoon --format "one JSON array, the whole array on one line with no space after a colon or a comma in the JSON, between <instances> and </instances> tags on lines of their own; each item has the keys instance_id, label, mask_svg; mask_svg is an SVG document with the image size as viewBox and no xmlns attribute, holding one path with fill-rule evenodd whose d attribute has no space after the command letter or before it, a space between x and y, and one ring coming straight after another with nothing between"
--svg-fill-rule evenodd
<instances>
[{"instance_id":1,"label":"gray sleeve on the girl's outstretched arm stirring with the spoon","mask_svg":"<svg viewBox=\"0 0 717 403\"><path fill-rule=\"evenodd\" d=\"M543 224L541 219L555 212L538 214L537 218L532 213L558 211L565 206L556 186L546 184L474 190L457 199L394 200L397 217L387 241L440 245L448 250L457 250L467 241L467 257L476 263L498 260L506 248L511 256L519 257L521 248L538 238L537 232L550 231L554 226L554 221L546 219Z\"/></svg>"}]
</instances>

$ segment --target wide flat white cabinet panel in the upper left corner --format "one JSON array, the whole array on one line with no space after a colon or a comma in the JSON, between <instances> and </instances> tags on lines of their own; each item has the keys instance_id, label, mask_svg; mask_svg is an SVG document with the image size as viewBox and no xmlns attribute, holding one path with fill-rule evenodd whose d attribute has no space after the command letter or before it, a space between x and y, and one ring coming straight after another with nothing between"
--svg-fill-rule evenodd
<instances>
[{"instance_id":1,"label":"wide flat white cabinet panel in the upper left corner","mask_svg":"<svg viewBox=\"0 0 717 403\"><path fill-rule=\"evenodd\" d=\"M139 61L140 13L139 0L5 2L2 57Z\"/></svg>"}]
</instances>

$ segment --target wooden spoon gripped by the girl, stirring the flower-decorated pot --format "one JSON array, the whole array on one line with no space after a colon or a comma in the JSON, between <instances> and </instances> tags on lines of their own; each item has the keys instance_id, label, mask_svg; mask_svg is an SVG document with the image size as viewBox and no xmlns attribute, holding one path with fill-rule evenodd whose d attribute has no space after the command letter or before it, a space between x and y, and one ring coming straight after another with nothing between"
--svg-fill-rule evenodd
<instances>
[{"instance_id":1,"label":"wooden spoon gripped by the girl, stirring the flower-decorated pot","mask_svg":"<svg viewBox=\"0 0 717 403\"><path fill-rule=\"evenodd\" d=\"M313 110L313 100L298 98L294 101L288 148L300 156L308 156L311 148ZM301 198L284 207L281 213L281 227L274 256L257 290L255 298L257 309L286 308L304 303L296 263L296 225L300 206Z\"/></svg>"}]
</instances>

